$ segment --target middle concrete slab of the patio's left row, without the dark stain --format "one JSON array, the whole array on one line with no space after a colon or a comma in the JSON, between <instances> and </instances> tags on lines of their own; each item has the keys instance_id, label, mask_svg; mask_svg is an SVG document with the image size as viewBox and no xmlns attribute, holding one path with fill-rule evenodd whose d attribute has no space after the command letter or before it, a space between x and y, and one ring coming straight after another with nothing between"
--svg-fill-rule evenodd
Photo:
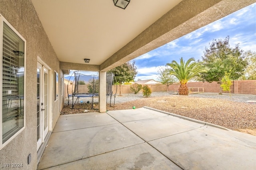
<instances>
[{"instance_id":1,"label":"middle concrete slab of the patio's left row, without the dark stain","mask_svg":"<svg viewBox=\"0 0 256 170\"><path fill-rule=\"evenodd\" d=\"M38 169L66 164L140 143L144 141L121 124L52 133Z\"/></svg>"}]
</instances>

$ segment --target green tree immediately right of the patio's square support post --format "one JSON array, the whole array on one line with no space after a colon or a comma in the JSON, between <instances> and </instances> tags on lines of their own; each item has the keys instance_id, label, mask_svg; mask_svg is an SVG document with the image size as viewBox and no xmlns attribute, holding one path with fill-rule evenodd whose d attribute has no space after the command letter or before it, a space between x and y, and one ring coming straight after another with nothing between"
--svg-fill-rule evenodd
<instances>
[{"instance_id":1,"label":"green tree immediately right of the patio's square support post","mask_svg":"<svg viewBox=\"0 0 256 170\"><path fill-rule=\"evenodd\" d=\"M134 80L137 72L137 67L135 66L135 61L128 61L116 68L109 70L116 76L116 81L119 82L119 96L121 96L121 84L122 82L130 82Z\"/></svg>"}]
</instances>

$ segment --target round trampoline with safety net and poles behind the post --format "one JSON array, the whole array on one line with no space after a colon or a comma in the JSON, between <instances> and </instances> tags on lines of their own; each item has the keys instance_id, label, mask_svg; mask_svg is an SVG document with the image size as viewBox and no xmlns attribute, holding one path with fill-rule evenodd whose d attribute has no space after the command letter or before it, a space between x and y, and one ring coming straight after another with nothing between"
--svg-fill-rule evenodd
<instances>
[{"instance_id":1,"label":"round trampoline with safety net and poles behind the post","mask_svg":"<svg viewBox=\"0 0 256 170\"><path fill-rule=\"evenodd\" d=\"M91 108L94 109L94 98L98 97L98 90L99 90L99 80L98 80L98 74L89 74L90 72L84 72L84 71L75 71L74 74L74 80L68 80L69 82L72 81L72 94L69 94L68 92L68 105L70 103L70 98L72 97L72 109L74 109L74 105L76 103L79 103L80 98L92 98L91 101ZM73 75L72 74L72 75ZM71 78L72 76L70 76ZM115 83L115 76L113 73L107 73L106 74L106 96L107 99L110 97L110 106L112 96L114 96L114 104L115 104L115 98L116 98L116 91L113 92L113 85ZM68 86L70 84L68 83ZM117 86L117 85L116 85ZM68 91L68 88L67 88ZM89 101L87 101L88 103Z\"/></svg>"}]
</instances>

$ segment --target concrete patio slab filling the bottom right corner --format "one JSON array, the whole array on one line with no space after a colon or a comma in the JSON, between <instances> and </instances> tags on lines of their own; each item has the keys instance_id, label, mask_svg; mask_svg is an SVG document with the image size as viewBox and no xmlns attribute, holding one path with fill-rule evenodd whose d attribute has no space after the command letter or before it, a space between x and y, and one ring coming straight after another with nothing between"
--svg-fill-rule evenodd
<instances>
[{"instance_id":1,"label":"concrete patio slab filling the bottom right corner","mask_svg":"<svg viewBox=\"0 0 256 170\"><path fill-rule=\"evenodd\" d=\"M182 169L256 168L256 137L236 131L204 126L149 143Z\"/></svg>"}]
</instances>

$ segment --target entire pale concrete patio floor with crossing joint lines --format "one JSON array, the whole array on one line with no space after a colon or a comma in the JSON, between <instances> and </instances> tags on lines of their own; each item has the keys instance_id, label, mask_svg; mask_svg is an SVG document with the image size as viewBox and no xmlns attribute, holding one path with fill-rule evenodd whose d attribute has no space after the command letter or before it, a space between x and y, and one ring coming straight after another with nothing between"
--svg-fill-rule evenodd
<instances>
[{"instance_id":1,"label":"entire pale concrete patio floor with crossing joint lines","mask_svg":"<svg viewBox=\"0 0 256 170\"><path fill-rule=\"evenodd\" d=\"M142 107L60 115L38 170L254 169L255 151L255 136Z\"/></svg>"}]
</instances>

